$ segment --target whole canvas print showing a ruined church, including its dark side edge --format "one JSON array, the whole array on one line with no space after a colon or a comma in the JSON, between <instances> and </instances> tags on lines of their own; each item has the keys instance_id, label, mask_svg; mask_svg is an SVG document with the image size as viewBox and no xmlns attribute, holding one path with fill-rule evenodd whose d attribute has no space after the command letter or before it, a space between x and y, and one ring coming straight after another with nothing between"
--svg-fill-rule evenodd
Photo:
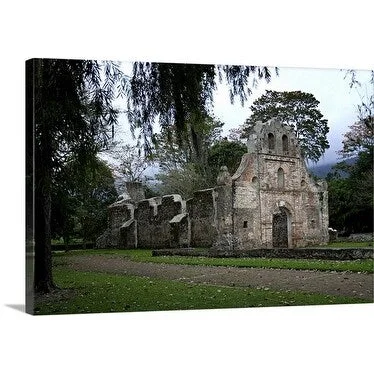
<instances>
[{"instance_id":1,"label":"whole canvas print showing a ruined church, including its dark side edge","mask_svg":"<svg viewBox=\"0 0 374 374\"><path fill-rule=\"evenodd\" d=\"M26 311L373 302L374 72L26 61Z\"/></svg>"}]
</instances>

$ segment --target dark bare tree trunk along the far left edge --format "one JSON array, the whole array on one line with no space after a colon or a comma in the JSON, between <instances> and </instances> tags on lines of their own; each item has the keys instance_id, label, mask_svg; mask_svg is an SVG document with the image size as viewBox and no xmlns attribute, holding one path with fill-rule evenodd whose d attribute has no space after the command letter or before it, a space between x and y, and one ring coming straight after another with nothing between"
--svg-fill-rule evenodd
<instances>
[{"instance_id":1,"label":"dark bare tree trunk along the far left edge","mask_svg":"<svg viewBox=\"0 0 374 374\"><path fill-rule=\"evenodd\" d=\"M27 173L33 181L33 236L34 236L34 291L50 292L55 288L52 279L51 252L51 183L52 183L52 132L43 116L36 115L35 103L43 102L42 61L26 63L26 143ZM38 121L38 123L36 123ZM39 139L36 141L36 133ZM30 139L31 137L31 139ZM31 159L30 159L31 157ZM30 194L28 195L30 198Z\"/></svg>"}]
</instances>

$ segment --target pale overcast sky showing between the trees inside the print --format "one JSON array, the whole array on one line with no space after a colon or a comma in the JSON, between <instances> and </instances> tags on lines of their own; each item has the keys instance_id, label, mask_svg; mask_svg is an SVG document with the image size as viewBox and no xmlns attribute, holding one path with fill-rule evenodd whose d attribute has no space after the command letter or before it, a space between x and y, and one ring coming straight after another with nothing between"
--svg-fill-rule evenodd
<instances>
[{"instance_id":1,"label":"pale overcast sky showing between the trees inside the print","mask_svg":"<svg viewBox=\"0 0 374 374\"><path fill-rule=\"evenodd\" d=\"M126 74L131 74L131 64L122 63L122 69ZM357 78L363 84L359 91L349 87L350 77L346 77L346 70L340 69L316 69L316 68L282 68L279 75L273 75L270 83L261 81L253 89L252 95L242 106L239 100L230 103L228 88L218 85L214 95L214 115L225 123L223 134L228 134L229 129L242 125L251 115L250 106L265 93L265 90L275 91L303 91L311 93L320 102L318 109L328 120L330 131L328 141L330 148L319 160L319 164L336 161L337 151L342 148L342 139L348 126L357 120L357 106L361 103L360 95L369 89L370 71L357 71ZM371 87L371 89L373 89ZM123 107L123 101L118 101ZM155 127L157 129L157 127ZM157 130L156 130L157 131ZM124 142L132 143L129 133L129 124L125 116L121 116L120 126L117 129L117 138Z\"/></svg>"}]
</instances>

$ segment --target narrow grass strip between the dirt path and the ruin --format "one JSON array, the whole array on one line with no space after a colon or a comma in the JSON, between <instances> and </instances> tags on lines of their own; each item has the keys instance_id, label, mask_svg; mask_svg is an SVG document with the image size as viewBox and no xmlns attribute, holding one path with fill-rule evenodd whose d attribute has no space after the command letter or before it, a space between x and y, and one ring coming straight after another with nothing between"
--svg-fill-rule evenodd
<instances>
[{"instance_id":1,"label":"narrow grass strip between the dirt path and the ruin","mask_svg":"<svg viewBox=\"0 0 374 374\"><path fill-rule=\"evenodd\" d=\"M272 269L320 270L320 271L351 271L373 273L373 259L336 261L336 260L310 260L310 259L281 259L281 258L208 258L188 256L157 256L152 257L152 251L136 250L90 250L74 251L74 254L116 255L125 256L132 261L152 262L178 265L204 265L204 266L233 266ZM64 254L65 255L65 254Z\"/></svg>"}]
</instances>

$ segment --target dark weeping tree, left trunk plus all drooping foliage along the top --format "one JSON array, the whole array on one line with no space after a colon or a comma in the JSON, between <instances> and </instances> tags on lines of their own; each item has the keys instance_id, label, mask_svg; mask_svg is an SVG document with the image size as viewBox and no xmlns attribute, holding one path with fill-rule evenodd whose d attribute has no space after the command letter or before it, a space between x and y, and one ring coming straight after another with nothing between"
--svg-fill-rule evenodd
<instances>
[{"instance_id":1,"label":"dark weeping tree, left trunk plus all drooping foliage along the top","mask_svg":"<svg viewBox=\"0 0 374 374\"><path fill-rule=\"evenodd\" d=\"M113 63L88 60L34 59L26 63L26 187L27 234L35 227L34 288L55 287L51 262L52 181L74 155L82 167L92 160L113 134L118 111L113 107L119 88L128 95L131 128L140 128L145 152L150 150L153 126L176 126L177 138L187 119L205 118L213 103L215 78L229 84L230 99L242 104L251 93L249 79L271 78L266 67L134 63L126 77ZM197 130L192 144L198 150ZM35 212L33 212L33 196Z\"/></svg>"}]
</instances>

